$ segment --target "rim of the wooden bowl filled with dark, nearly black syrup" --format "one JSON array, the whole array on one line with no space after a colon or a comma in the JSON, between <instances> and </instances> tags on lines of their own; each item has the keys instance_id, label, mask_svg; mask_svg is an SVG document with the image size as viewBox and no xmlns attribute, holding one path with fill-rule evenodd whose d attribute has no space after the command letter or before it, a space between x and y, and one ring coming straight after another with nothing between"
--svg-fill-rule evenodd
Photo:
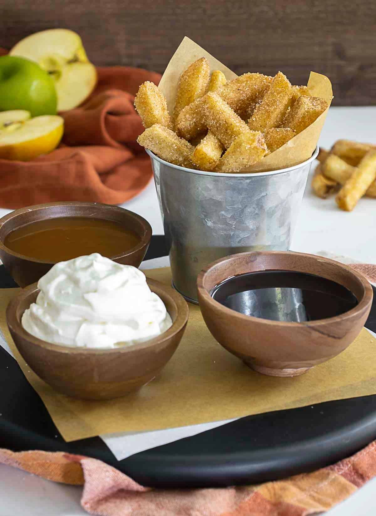
<instances>
[{"instance_id":1,"label":"rim of the wooden bowl filled with dark, nearly black syrup","mask_svg":"<svg viewBox=\"0 0 376 516\"><path fill-rule=\"evenodd\" d=\"M362 299L358 302L358 304L352 308L351 310L348 310L347 312L344 312L342 314L336 315L334 317L327 317L326 319L316 319L312 321L302 321L302 322L296 322L296 321L275 321L271 319L263 319L261 317L254 317L253 315L246 315L242 314L241 312L237 312L236 310L232 310L231 308L225 307L220 302L213 299L207 289L204 287L204 278L205 275L212 269L212 267L215 267L216 265L226 262L227 260L233 260L238 256L247 256L251 254L260 254L260 255L293 255L293 256L305 256L309 257L315 260L318 260L320 262L328 263L331 265L334 265L335 267L345 270L349 275L352 275L354 278L356 278L363 287L363 296ZM269 269L264 269L269 270ZM224 281L226 278L224 278L221 281ZM215 262L211 262L209 265L207 265L204 269L201 270L198 278L197 278L197 289L199 293L199 304L200 304L200 296L202 296L206 302L208 302L210 305L212 305L216 309L220 309L223 311L224 314L227 314L232 317L236 317L241 321L252 321L257 322L257 324L260 325L266 325L266 326L274 326L274 327L283 327L283 328L297 328L299 326L309 326L310 328L315 327L321 327L328 325L330 323L340 322L343 321L344 318L348 317L354 317L357 315L361 315L362 312L367 309L368 305L372 302L373 298L373 291L372 286L367 280L363 274L360 272L352 269L348 265L342 264L340 262L337 262L336 260L332 260L330 258L326 258L324 256L319 256L316 254L309 254L309 253L301 253L297 251L248 251L243 253L236 253L236 254L230 254L228 256L224 256L223 258L220 258L219 260L216 260ZM201 307L200 307L201 308Z\"/></svg>"}]
</instances>

